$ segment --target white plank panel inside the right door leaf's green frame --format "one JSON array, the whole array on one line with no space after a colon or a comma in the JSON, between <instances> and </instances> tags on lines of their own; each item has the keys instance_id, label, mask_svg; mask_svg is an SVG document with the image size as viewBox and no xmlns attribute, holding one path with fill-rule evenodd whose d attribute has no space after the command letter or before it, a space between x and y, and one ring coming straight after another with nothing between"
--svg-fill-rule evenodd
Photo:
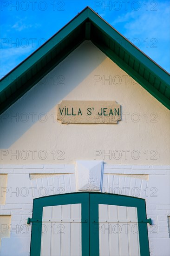
<instances>
[{"instance_id":1,"label":"white plank panel inside the right door leaf's green frame","mask_svg":"<svg viewBox=\"0 0 170 256\"><path fill-rule=\"evenodd\" d=\"M99 255L140 256L137 208L98 205Z\"/></svg>"}]
</instances>

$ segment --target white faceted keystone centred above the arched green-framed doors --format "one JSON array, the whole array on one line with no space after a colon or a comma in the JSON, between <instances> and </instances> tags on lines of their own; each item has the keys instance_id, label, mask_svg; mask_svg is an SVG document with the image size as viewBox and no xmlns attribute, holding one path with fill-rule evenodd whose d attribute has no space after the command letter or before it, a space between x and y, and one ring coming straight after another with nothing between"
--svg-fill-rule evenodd
<instances>
[{"instance_id":1,"label":"white faceted keystone centred above the arched green-framed doors","mask_svg":"<svg viewBox=\"0 0 170 256\"><path fill-rule=\"evenodd\" d=\"M97 190L101 189L103 172L102 161L77 161L77 188L78 190Z\"/></svg>"}]
</instances>

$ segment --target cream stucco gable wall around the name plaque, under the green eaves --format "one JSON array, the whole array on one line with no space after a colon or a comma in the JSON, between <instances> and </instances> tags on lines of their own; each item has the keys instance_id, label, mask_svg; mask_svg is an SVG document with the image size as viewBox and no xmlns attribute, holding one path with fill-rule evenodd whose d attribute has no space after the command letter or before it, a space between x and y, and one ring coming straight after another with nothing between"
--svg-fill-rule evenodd
<instances>
[{"instance_id":1,"label":"cream stucco gable wall around the name plaque, under the green eaves","mask_svg":"<svg viewBox=\"0 0 170 256\"><path fill-rule=\"evenodd\" d=\"M61 124L62 100L117 101L122 120ZM169 164L169 124L167 108L85 41L1 115L1 163Z\"/></svg>"}]
</instances>

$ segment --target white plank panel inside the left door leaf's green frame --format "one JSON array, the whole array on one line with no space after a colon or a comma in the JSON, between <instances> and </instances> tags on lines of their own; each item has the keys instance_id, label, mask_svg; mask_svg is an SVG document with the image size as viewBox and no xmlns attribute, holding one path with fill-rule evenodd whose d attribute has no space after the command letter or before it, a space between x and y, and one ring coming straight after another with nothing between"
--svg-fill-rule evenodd
<instances>
[{"instance_id":1,"label":"white plank panel inside the left door leaf's green frame","mask_svg":"<svg viewBox=\"0 0 170 256\"><path fill-rule=\"evenodd\" d=\"M81 204L43 207L41 256L81 256Z\"/></svg>"}]
</instances>

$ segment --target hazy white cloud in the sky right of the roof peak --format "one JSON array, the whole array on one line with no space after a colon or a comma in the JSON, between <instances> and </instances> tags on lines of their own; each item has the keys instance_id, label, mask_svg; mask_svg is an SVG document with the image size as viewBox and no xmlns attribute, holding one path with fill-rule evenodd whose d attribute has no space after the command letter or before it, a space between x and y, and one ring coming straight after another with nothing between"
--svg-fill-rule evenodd
<instances>
[{"instance_id":1,"label":"hazy white cloud in the sky right of the roof peak","mask_svg":"<svg viewBox=\"0 0 170 256\"><path fill-rule=\"evenodd\" d=\"M124 16L119 15L111 25L161 67L169 71L169 5L164 1L157 3L157 11L146 11L144 8L138 11L131 10Z\"/></svg>"}]
</instances>

